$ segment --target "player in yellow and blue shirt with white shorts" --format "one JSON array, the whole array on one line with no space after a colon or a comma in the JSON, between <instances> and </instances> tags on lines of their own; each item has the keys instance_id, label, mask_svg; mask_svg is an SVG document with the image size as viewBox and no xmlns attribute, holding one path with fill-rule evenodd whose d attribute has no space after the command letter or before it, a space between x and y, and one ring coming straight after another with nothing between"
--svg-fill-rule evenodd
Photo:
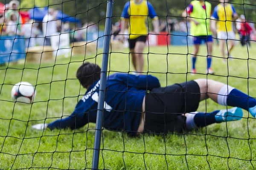
<instances>
[{"instance_id":1,"label":"player in yellow and blue shirt with white shorts","mask_svg":"<svg viewBox=\"0 0 256 170\"><path fill-rule=\"evenodd\" d=\"M225 58L225 47L227 47L227 40L230 41L230 45L227 49L228 57L232 58L230 53L233 47L236 45L236 34L233 29L233 20L237 17L238 14L236 13L235 8L232 4L228 3L228 0L220 0L220 4L214 8L214 12L211 17L213 19L211 28L214 30L214 32L217 32L221 56L223 58ZM225 59L223 59L223 61L226 62Z\"/></svg>"}]
</instances>

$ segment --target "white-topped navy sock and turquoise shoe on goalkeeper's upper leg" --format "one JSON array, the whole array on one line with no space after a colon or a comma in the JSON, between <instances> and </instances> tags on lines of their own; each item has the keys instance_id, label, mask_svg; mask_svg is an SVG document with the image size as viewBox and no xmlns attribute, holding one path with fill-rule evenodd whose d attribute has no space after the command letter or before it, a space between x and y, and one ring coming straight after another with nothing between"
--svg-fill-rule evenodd
<instances>
[{"instance_id":1,"label":"white-topped navy sock and turquoise shoe on goalkeeper's upper leg","mask_svg":"<svg viewBox=\"0 0 256 170\"><path fill-rule=\"evenodd\" d=\"M243 108L249 111L253 117L256 116L256 99L229 85L224 85L218 94L218 104Z\"/></svg>"}]
</instances>

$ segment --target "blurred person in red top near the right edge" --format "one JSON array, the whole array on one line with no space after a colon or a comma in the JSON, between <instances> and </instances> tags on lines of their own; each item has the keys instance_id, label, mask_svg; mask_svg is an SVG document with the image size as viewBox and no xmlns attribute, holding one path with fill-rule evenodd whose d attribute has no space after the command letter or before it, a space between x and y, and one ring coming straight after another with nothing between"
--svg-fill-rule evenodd
<instances>
[{"instance_id":1,"label":"blurred person in red top near the right edge","mask_svg":"<svg viewBox=\"0 0 256 170\"><path fill-rule=\"evenodd\" d=\"M239 23L240 24L239 32L240 32L241 45L244 46L246 45L246 42L247 42L248 45L250 46L250 35L252 33L255 34L255 29L251 27L248 22L246 22L244 15L241 15L240 18L241 18L241 22Z\"/></svg>"}]
</instances>

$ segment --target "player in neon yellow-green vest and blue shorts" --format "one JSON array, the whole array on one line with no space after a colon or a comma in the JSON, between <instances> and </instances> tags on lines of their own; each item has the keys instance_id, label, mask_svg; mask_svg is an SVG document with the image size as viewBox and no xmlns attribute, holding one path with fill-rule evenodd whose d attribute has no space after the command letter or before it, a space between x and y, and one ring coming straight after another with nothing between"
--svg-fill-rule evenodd
<instances>
[{"instance_id":1,"label":"player in neon yellow-green vest and blue shorts","mask_svg":"<svg viewBox=\"0 0 256 170\"><path fill-rule=\"evenodd\" d=\"M206 1L193 0L189 6L183 11L182 17L186 17L190 21L190 35L194 37L194 52L192 56L192 73L196 73L195 62L201 42L207 44L207 73L214 74L211 68L212 64L212 31L210 28L210 16L212 5Z\"/></svg>"}]
</instances>

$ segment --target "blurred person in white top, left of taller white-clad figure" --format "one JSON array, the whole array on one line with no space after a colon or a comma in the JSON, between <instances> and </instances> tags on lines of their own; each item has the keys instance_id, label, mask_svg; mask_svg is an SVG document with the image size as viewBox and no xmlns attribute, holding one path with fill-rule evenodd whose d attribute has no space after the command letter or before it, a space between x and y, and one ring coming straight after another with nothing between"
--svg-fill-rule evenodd
<instances>
[{"instance_id":1,"label":"blurred person in white top, left of taller white-clad figure","mask_svg":"<svg viewBox=\"0 0 256 170\"><path fill-rule=\"evenodd\" d=\"M25 38L26 48L34 47L36 45L36 37L39 34L38 23L34 20L28 20L21 28L22 34Z\"/></svg>"}]
</instances>

